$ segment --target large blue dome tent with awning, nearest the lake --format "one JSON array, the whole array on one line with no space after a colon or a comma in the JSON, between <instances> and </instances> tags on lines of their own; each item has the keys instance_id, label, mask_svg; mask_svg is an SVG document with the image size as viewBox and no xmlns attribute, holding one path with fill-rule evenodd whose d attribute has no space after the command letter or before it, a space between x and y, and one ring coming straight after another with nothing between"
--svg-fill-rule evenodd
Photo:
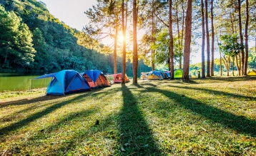
<instances>
[{"instance_id":1,"label":"large blue dome tent with awning, nearest the lake","mask_svg":"<svg viewBox=\"0 0 256 156\"><path fill-rule=\"evenodd\" d=\"M34 79L51 78L51 82L46 90L46 95L65 95L77 93L85 90L91 90L87 80L85 80L77 71L64 70L57 73L49 73Z\"/></svg>"}]
</instances>

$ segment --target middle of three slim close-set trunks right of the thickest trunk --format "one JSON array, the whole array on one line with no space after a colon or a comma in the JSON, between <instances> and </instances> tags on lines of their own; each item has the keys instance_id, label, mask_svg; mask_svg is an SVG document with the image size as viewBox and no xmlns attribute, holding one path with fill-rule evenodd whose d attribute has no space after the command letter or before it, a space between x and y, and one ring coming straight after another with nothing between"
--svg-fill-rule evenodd
<instances>
[{"instance_id":1,"label":"middle of three slim close-set trunks right of the thickest trunk","mask_svg":"<svg viewBox=\"0 0 256 156\"><path fill-rule=\"evenodd\" d=\"M205 0L205 23L206 23L206 41L207 41L207 77L210 77L210 36L208 26L208 0Z\"/></svg>"}]
</instances>

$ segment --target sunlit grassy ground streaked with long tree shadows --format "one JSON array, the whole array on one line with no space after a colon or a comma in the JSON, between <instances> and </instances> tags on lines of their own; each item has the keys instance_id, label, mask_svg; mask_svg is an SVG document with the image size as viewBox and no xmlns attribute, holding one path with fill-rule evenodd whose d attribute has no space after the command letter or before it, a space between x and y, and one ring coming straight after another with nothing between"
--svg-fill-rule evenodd
<instances>
[{"instance_id":1,"label":"sunlit grassy ground streaked with long tree shadows","mask_svg":"<svg viewBox=\"0 0 256 156\"><path fill-rule=\"evenodd\" d=\"M256 155L256 77L44 91L0 93L0 155Z\"/></svg>"}]
</instances>

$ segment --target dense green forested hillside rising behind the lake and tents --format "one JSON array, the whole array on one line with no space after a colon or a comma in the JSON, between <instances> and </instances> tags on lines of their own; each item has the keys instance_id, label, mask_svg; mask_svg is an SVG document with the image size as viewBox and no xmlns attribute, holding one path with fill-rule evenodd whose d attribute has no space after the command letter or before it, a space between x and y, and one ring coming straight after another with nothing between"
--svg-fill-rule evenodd
<instances>
[{"instance_id":1,"label":"dense green forested hillside rising behind the lake and tents","mask_svg":"<svg viewBox=\"0 0 256 156\"><path fill-rule=\"evenodd\" d=\"M99 69L114 73L114 56L107 46L54 18L46 4L35 0L0 1L0 72ZM122 58L117 56L117 72ZM127 61L127 75L132 63ZM150 71L139 61L139 71Z\"/></svg>"}]
</instances>

